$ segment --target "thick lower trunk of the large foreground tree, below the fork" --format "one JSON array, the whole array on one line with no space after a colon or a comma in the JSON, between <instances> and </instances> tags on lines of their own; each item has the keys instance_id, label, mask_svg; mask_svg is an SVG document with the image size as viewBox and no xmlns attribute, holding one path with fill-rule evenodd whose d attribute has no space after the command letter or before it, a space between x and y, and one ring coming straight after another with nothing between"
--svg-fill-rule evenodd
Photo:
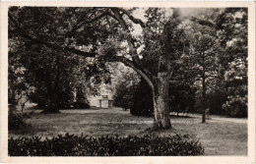
<instances>
[{"instance_id":1,"label":"thick lower trunk of the large foreground tree, below the fork","mask_svg":"<svg viewBox=\"0 0 256 164\"><path fill-rule=\"evenodd\" d=\"M153 93L154 102L154 125L158 129L170 129L169 119L169 97L168 97L168 76L167 73L159 73L158 82Z\"/></svg>"}]
</instances>

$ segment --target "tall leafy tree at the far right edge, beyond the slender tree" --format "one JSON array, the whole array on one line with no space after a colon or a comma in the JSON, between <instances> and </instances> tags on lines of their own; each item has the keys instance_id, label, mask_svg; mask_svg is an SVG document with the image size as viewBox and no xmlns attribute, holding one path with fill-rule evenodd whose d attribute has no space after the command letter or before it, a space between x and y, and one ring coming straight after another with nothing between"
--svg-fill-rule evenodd
<instances>
[{"instance_id":1,"label":"tall leafy tree at the far right edge, beyond the slender tree","mask_svg":"<svg viewBox=\"0 0 256 164\"><path fill-rule=\"evenodd\" d=\"M221 42L220 75L224 80L224 112L232 117L247 117L248 101L248 11L225 9L217 22Z\"/></svg>"}]
</instances>

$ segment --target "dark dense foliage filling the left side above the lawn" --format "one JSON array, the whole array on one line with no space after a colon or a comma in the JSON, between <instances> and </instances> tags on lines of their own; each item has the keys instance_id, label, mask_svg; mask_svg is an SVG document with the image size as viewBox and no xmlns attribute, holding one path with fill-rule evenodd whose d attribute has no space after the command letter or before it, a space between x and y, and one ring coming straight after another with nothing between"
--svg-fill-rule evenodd
<instances>
[{"instance_id":1,"label":"dark dense foliage filling the left side above the lawn","mask_svg":"<svg viewBox=\"0 0 256 164\"><path fill-rule=\"evenodd\" d=\"M17 105L21 99L19 97L23 97L37 103L45 113L58 112L63 108L90 107L87 94L96 91L91 86L91 80L95 78L94 82L100 82L101 78L94 75L99 72L103 75L106 71L102 70L103 65L97 66L96 60L76 54L83 53L81 48L90 49L87 46L96 42L94 37L98 32L93 24L87 30L94 32L87 37L66 33L74 18L79 17L70 15L74 10L10 8L9 103ZM86 11L80 10L78 15L83 12ZM83 42L83 47L71 48L74 39L77 39L77 46ZM63 45L67 47L61 47Z\"/></svg>"}]
</instances>

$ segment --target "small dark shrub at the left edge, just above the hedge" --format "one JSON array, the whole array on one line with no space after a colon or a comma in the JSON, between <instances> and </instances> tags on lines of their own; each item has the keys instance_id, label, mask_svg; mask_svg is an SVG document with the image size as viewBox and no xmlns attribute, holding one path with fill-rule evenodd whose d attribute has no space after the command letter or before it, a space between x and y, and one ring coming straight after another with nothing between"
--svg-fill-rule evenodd
<instances>
[{"instance_id":1,"label":"small dark shrub at the left edge, just above the hedge","mask_svg":"<svg viewBox=\"0 0 256 164\"><path fill-rule=\"evenodd\" d=\"M26 120L30 116L28 114L9 111L8 113L8 130L22 130L30 127Z\"/></svg>"}]
</instances>

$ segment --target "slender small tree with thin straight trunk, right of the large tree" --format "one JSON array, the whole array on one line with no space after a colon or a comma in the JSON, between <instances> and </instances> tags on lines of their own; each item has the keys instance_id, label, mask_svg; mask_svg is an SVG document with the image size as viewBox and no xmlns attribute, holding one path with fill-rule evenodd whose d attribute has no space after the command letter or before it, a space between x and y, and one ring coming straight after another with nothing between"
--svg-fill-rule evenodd
<instances>
[{"instance_id":1,"label":"slender small tree with thin straight trunk, right of the large tree","mask_svg":"<svg viewBox=\"0 0 256 164\"><path fill-rule=\"evenodd\" d=\"M190 40L190 54L188 61L191 64L191 69L197 74L197 80L201 85L201 106L202 106L202 122L206 122L207 109L207 85L212 82L216 75L215 55L216 42L215 38L208 34L197 33Z\"/></svg>"}]
</instances>

